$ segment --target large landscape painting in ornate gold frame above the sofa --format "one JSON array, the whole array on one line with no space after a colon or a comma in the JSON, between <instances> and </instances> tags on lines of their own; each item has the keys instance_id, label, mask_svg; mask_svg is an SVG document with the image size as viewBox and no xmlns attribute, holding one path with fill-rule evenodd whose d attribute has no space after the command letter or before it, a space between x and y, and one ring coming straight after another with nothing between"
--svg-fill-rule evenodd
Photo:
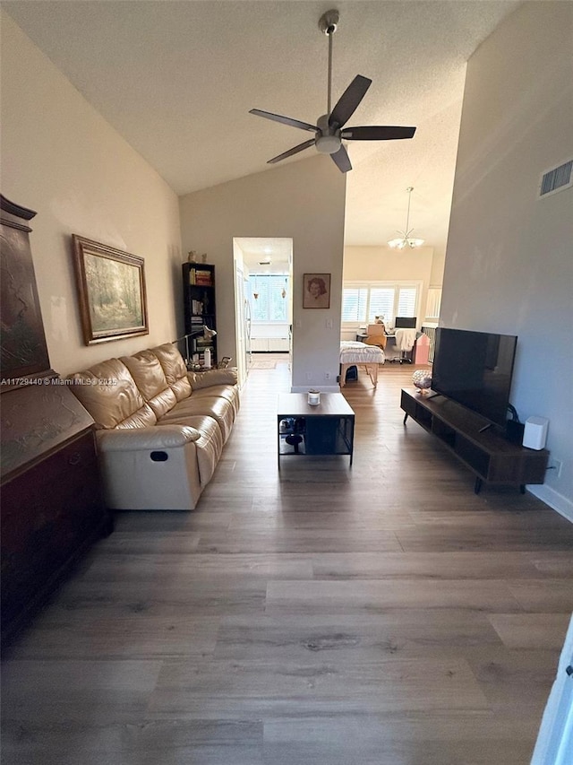
<instances>
[{"instance_id":1,"label":"large landscape painting in ornate gold frame above the sofa","mask_svg":"<svg viewBox=\"0 0 573 765\"><path fill-rule=\"evenodd\" d=\"M86 345L148 335L143 258L77 234L72 239Z\"/></svg>"}]
</instances>

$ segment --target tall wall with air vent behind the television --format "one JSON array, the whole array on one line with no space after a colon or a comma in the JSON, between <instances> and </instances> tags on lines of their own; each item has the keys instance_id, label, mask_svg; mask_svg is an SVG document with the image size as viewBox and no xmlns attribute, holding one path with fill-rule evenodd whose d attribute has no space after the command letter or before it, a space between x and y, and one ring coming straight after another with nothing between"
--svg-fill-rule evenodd
<instances>
[{"instance_id":1,"label":"tall wall with air vent behind the television","mask_svg":"<svg viewBox=\"0 0 573 765\"><path fill-rule=\"evenodd\" d=\"M512 404L563 461L530 488L571 519L573 188L536 196L573 157L572 30L572 4L525 3L468 63L440 316L518 335Z\"/></svg>"}]
</instances>

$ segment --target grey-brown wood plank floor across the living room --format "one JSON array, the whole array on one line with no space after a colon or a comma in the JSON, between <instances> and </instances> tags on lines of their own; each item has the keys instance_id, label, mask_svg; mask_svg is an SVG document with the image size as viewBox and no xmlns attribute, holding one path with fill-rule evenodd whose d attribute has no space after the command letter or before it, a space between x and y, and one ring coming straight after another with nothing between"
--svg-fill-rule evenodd
<instances>
[{"instance_id":1,"label":"grey-brown wood plank floor across the living room","mask_svg":"<svg viewBox=\"0 0 573 765\"><path fill-rule=\"evenodd\" d=\"M192 513L124 513L4 657L4 765L524 765L573 609L573 525L344 394L355 458L276 456L253 369Z\"/></svg>"}]
</instances>

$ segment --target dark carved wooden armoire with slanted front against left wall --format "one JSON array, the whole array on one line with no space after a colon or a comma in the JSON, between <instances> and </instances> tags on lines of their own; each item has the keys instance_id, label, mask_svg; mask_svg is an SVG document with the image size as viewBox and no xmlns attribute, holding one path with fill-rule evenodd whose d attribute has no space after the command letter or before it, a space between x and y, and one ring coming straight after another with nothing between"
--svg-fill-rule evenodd
<instances>
[{"instance_id":1,"label":"dark carved wooden armoire with slanted front against left wall","mask_svg":"<svg viewBox=\"0 0 573 765\"><path fill-rule=\"evenodd\" d=\"M36 213L0 195L2 641L99 535L93 420L51 369L30 249Z\"/></svg>"}]
</instances>

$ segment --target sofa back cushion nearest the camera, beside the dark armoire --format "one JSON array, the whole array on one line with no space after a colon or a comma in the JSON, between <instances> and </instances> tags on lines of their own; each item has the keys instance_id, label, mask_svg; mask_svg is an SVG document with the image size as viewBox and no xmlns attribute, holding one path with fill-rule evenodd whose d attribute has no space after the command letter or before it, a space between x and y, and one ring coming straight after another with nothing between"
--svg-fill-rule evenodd
<instances>
[{"instance_id":1,"label":"sofa back cushion nearest the camera, beside the dark armoire","mask_svg":"<svg viewBox=\"0 0 573 765\"><path fill-rule=\"evenodd\" d=\"M76 398L96 422L98 430L154 425L157 417L139 392L129 369L119 359L109 359L68 379ZM124 424L125 423L125 424Z\"/></svg>"}]
</instances>

